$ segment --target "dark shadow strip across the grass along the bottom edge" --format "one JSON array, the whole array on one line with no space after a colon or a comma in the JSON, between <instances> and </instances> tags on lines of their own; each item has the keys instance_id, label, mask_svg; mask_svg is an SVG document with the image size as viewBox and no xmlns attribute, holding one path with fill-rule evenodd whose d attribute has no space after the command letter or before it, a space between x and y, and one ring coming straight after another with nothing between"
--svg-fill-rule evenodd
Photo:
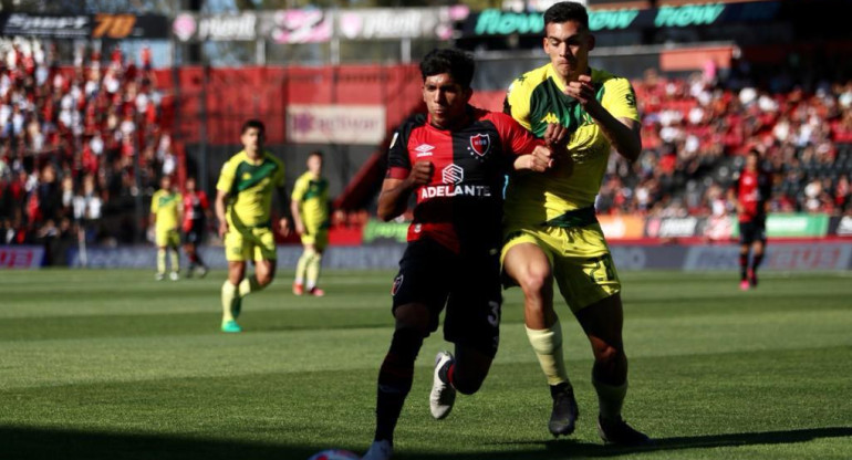
<instances>
[{"instance_id":1,"label":"dark shadow strip across the grass along the bottom edge","mask_svg":"<svg viewBox=\"0 0 852 460\"><path fill-rule=\"evenodd\" d=\"M627 453L736 447L750 445L786 445L819 438L852 437L851 427L811 428L787 431L707 435L659 438L654 445L637 448L606 447L574 440L493 442L512 446L511 452L425 453L401 451L395 458L408 460L509 460L617 457ZM33 427L0 427L2 458L30 459L157 459L157 460L301 460L331 446L288 446L209 439L177 438L155 435L125 435L55 430ZM523 449L529 446L529 449ZM518 449L520 447L520 449ZM342 447L355 449L353 447Z\"/></svg>"}]
</instances>

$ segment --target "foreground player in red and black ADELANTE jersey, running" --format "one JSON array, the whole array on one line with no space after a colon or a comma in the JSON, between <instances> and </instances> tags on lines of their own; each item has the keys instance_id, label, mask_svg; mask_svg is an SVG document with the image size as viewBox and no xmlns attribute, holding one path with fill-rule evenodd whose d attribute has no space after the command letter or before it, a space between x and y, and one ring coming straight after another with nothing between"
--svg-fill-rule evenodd
<instances>
[{"instance_id":1,"label":"foreground player in red and black ADELANTE jersey, running","mask_svg":"<svg viewBox=\"0 0 852 460\"><path fill-rule=\"evenodd\" d=\"M391 144L378 217L402 215L412 194L417 205L391 290L396 327L378 373L376 432L364 459L391 458L415 358L445 305L444 338L456 347L455 357L436 357L433 417L449 414L456 391L479 389L499 341L503 176L552 164L550 150L510 116L468 104L474 67L458 50L427 54L420 73L428 115L403 123Z\"/></svg>"}]
</instances>

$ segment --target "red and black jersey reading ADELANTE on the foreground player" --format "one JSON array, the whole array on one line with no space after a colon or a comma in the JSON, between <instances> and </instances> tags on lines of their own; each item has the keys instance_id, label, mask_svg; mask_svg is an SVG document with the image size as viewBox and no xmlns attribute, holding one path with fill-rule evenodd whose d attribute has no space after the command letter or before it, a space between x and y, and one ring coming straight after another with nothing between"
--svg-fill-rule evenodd
<instances>
[{"instance_id":1,"label":"red and black jersey reading ADELANTE on the foreground player","mask_svg":"<svg viewBox=\"0 0 852 460\"><path fill-rule=\"evenodd\" d=\"M453 130L414 115L394 134L387 178L407 178L417 161L435 166L429 184L414 190L408 241L430 238L454 252L499 248L505 175L541 142L509 115L472 106L468 115Z\"/></svg>"}]
</instances>

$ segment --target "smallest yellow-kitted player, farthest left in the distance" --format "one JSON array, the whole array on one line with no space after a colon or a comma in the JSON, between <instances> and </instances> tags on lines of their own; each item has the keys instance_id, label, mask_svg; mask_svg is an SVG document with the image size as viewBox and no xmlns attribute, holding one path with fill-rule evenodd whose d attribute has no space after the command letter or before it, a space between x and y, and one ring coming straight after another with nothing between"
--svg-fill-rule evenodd
<instances>
[{"instance_id":1,"label":"smallest yellow-kitted player, farthest left in the distance","mask_svg":"<svg viewBox=\"0 0 852 460\"><path fill-rule=\"evenodd\" d=\"M172 177L163 176L159 190L150 198L150 222L154 224L157 244L157 280L166 276L166 252L172 250L172 272L169 279L180 279L180 220L184 199L172 188Z\"/></svg>"}]
</instances>

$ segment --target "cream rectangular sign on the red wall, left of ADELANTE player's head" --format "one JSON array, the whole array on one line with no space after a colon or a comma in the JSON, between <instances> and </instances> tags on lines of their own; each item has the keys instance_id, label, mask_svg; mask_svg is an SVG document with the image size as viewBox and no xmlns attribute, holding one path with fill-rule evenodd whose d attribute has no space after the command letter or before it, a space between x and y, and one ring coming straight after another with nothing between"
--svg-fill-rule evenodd
<instances>
[{"instance_id":1,"label":"cream rectangular sign on the red wall, left of ADELANTE player's head","mask_svg":"<svg viewBox=\"0 0 852 460\"><path fill-rule=\"evenodd\" d=\"M287 139L295 144L377 145L385 128L383 105L287 106Z\"/></svg>"}]
</instances>

